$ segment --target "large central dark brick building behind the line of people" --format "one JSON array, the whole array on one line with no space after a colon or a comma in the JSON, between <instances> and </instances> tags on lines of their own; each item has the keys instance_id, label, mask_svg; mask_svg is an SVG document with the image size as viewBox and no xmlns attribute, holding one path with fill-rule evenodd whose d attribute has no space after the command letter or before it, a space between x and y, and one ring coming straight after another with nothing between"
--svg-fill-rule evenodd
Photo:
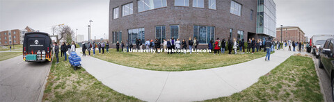
<instances>
[{"instance_id":1,"label":"large central dark brick building behind the line of people","mask_svg":"<svg viewBox=\"0 0 334 102\"><path fill-rule=\"evenodd\" d=\"M181 41L196 37L200 42L199 47L207 48L209 41L216 40L217 37L220 40L222 38L227 40L228 37L237 40L256 38L257 3L260 2L257 0L176 2L175 0L110 0L109 42L111 47L116 47L117 41L129 40L135 44L136 39L158 38L162 42L163 39L171 37L180 38ZM276 4L274 6L276 8ZM276 16L276 12L272 13Z\"/></svg>"}]
</instances>

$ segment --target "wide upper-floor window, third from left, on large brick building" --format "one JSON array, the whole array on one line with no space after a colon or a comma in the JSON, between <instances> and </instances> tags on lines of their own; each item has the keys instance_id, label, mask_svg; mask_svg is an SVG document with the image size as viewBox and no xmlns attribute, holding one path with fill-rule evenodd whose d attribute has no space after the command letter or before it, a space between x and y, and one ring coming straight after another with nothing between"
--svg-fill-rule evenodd
<instances>
[{"instance_id":1,"label":"wide upper-floor window, third from left, on large brick building","mask_svg":"<svg viewBox=\"0 0 334 102\"><path fill-rule=\"evenodd\" d=\"M138 0L138 12L167 6L166 0Z\"/></svg>"}]
</instances>

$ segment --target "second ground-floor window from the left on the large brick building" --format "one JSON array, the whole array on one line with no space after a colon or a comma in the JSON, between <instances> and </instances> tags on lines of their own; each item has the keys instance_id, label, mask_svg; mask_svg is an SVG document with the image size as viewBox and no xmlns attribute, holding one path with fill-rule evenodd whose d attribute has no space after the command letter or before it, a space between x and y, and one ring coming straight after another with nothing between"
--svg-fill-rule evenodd
<instances>
[{"instance_id":1,"label":"second ground-floor window from the left on the large brick building","mask_svg":"<svg viewBox=\"0 0 334 102\"><path fill-rule=\"evenodd\" d=\"M127 30L127 40L136 44L136 39L141 39L142 43L145 41L145 29L144 28L133 28Z\"/></svg>"}]
</instances>

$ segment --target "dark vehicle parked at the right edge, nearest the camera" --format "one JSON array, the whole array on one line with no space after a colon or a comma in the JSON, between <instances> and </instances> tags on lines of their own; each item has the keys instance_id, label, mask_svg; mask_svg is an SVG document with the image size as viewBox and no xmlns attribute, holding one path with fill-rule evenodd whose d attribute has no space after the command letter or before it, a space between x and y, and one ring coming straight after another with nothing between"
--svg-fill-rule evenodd
<instances>
[{"instance_id":1,"label":"dark vehicle parked at the right edge, nearest the camera","mask_svg":"<svg viewBox=\"0 0 334 102\"><path fill-rule=\"evenodd\" d=\"M319 48L319 68L325 69L331 78L332 98L334 100L334 38L326 40Z\"/></svg>"}]
</instances>

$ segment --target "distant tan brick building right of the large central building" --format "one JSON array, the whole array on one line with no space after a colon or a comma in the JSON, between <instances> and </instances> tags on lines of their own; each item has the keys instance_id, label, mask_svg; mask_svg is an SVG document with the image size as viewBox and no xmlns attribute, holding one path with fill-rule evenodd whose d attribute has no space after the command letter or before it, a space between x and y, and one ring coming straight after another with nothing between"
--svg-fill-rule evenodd
<instances>
[{"instance_id":1,"label":"distant tan brick building right of the large central building","mask_svg":"<svg viewBox=\"0 0 334 102\"><path fill-rule=\"evenodd\" d=\"M306 42L305 33L298 26L283 26L283 41ZM280 28L276 28L276 40L280 40Z\"/></svg>"}]
</instances>

